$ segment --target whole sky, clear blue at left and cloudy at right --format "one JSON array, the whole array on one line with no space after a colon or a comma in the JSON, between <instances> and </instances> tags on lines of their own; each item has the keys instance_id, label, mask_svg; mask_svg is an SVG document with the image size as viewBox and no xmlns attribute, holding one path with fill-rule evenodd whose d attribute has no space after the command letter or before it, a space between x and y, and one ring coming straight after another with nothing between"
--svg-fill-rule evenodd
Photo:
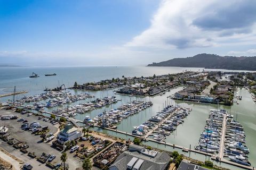
<instances>
[{"instance_id":1,"label":"whole sky, clear blue at left and cloudy at right","mask_svg":"<svg viewBox=\"0 0 256 170\"><path fill-rule=\"evenodd\" d=\"M0 64L256 56L255 0L0 0Z\"/></svg>"}]
</instances>

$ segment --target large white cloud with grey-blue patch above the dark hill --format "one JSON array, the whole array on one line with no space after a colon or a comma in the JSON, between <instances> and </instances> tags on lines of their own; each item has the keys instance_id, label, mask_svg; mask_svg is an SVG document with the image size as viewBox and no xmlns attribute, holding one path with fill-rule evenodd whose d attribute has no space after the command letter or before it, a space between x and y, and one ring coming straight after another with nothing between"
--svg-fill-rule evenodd
<instances>
[{"instance_id":1,"label":"large white cloud with grey-blue patch above the dark hill","mask_svg":"<svg viewBox=\"0 0 256 170\"><path fill-rule=\"evenodd\" d=\"M124 46L175 49L253 43L255 22L253 0L163 0L150 27Z\"/></svg>"}]
</instances>

